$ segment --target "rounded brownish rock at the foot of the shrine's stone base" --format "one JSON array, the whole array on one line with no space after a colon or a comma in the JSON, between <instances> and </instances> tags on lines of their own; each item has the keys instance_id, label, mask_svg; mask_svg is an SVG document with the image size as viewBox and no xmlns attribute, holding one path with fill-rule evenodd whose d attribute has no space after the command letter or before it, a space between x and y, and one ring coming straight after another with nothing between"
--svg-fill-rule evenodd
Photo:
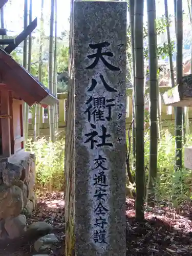
<instances>
[{"instance_id":1,"label":"rounded brownish rock at the foot of the shrine's stone base","mask_svg":"<svg viewBox=\"0 0 192 256\"><path fill-rule=\"evenodd\" d=\"M16 218L7 218L5 220L5 229L10 239L18 238L26 231L26 216L19 215Z\"/></svg>"}]
</instances>

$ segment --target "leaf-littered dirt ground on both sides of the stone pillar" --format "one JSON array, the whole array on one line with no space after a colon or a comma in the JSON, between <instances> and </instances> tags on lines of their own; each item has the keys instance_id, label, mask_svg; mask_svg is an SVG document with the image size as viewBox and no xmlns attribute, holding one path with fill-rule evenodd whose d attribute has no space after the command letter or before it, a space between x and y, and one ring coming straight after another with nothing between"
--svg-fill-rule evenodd
<instances>
[{"instance_id":1,"label":"leaf-littered dirt ground on both sides of the stone pillar","mask_svg":"<svg viewBox=\"0 0 192 256\"><path fill-rule=\"evenodd\" d=\"M43 193L39 195L37 210L33 213L28 224L36 221L46 221L55 227L64 230L64 200L63 194ZM184 205L178 213L175 209L156 207L147 209L145 222L135 221L135 202L126 200L126 255L128 256L192 256L192 207ZM62 244L65 234L56 233L59 243L48 254L63 256ZM2 256L31 256L33 241L28 241L23 246L19 243L0 243Z\"/></svg>"}]
</instances>

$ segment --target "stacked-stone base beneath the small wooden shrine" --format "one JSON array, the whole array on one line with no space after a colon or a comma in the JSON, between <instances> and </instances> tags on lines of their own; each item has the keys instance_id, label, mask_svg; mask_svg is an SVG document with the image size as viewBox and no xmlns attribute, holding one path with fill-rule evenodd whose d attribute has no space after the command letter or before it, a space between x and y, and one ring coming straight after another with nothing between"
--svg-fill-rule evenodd
<instances>
[{"instance_id":1,"label":"stacked-stone base beneath the small wooden shrine","mask_svg":"<svg viewBox=\"0 0 192 256\"><path fill-rule=\"evenodd\" d=\"M19 151L0 162L0 239L19 237L26 230L26 212L36 206L35 155Z\"/></svg>"}]
</instances>

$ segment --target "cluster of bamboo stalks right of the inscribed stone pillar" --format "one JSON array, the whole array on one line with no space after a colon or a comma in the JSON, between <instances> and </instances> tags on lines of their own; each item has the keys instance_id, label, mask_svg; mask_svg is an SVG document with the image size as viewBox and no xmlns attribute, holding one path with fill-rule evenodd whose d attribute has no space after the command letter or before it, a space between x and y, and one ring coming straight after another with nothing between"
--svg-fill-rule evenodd
<instances>
[{"instance_id":1,"label":"cluster of bamboo stalks right of the inscribed stone pillar","mask_svg":"<svg viewBox=\"0 0 192 256\"><path fill-rule=\"evenodd\" d=\"M147 0L147 27L144 27L143 9L144 1L129 1L130 24L128 28L129 51L128 62L130 77L133 85L133 121L132 121L132 144L131 140L129 147L133 149L132 154L132 176L135 176L136 183L136 218L140 221L144 219L144 205L151 207L156 203L156 179L158 176L158 143L161 140L161 127L159 119L159 84L158 84L158 59L159 49L157 45L157 35L159 33L158 20L156 17L156 1ZM172 41L170 39L170 16L168 15L167 0L164 1L165 10L165 27L167 33L167 52L169 57L170 80L172 87L179 84L182 79L182 48L183 48L183 12L182 0L173 1L175 7L175 32L176 32L176 80L174 78L174 68L172 59ZM191 7L188 2L188 9L191 16ZM143 47L143 40L139 38L147 38L147 52ZM146 70L149 73L149 83L146 85ZM145 111L144 111L144 95L146 87L150 92L150 160L149 168L146 170L144 163L144 133L145 129ZM188 127L188 110L183 110L181 107L175 108L175 171L182 170L182 145L183 136ZM135 137L134 137L135 136ZM130 158L130 154L127 156ZM130 163L130 161L127 161ZM131 169L130 166L128 169ZM134 175L135 171L135 175ZM129 175L127 175L130 177ZM132 180L134 178L132 177ZM132 182L130 180L130 182ZM147 185L146 185L147 183ZM146 204L145 204L146 203Z\"/></svg>"}]
</instances>

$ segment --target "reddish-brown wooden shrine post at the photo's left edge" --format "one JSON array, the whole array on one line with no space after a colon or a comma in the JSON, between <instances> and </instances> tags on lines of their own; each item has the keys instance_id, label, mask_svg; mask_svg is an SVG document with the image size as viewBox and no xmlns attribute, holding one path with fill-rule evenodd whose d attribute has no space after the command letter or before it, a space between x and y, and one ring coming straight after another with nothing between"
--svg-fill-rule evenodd
<instances>
[{"instance_id":1,"label":"reddish-brown wooden shrine post at the photo's left edge","mask_svg":"<svg viewBox=\"0 0 192 256\"><path fill-rule=\"evenodd\" d=\"M9 109L9 91L1 91L1 115L10 115ZM3 157L11 155L11 141L10 141L10 119L1 118L2 123L2 148Z\"/></svg>"}]
</instances>

